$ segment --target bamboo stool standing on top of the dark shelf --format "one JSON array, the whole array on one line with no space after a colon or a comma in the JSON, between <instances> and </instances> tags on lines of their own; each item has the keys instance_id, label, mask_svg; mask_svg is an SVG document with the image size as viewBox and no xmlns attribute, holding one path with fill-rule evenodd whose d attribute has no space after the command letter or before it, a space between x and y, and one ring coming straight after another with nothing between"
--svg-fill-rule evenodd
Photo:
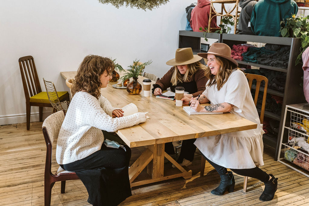
<instances>
[{"instance_id":1,"label":"bamboo stool standing on top of the dark shelf","mask_svg":"<svg viewBox=\"0 0 309 206\"><path fill-rule=\"evenodd\" d=\"M214 9L214 3L220 3L221 4L221 12L217 12ZM230 11L226 11L224 4L235 4L234 7ZM236 22L237 18L239 17L239 11L238 11L238 3L239 0L210 0L210 12L209 12L209 21L208 21L208 31L218 30L218 28L211 28L210 23L211 20L217 16L221 17L220 24L222 24L222 17L223 16L231 16L234 20L234 34L236 34ZM236 9L235 9L236 8ZM235 10L235 17L231 14L232 11ZM223 11L225 14L223 14Z\"/></svg>"}]
</instances>

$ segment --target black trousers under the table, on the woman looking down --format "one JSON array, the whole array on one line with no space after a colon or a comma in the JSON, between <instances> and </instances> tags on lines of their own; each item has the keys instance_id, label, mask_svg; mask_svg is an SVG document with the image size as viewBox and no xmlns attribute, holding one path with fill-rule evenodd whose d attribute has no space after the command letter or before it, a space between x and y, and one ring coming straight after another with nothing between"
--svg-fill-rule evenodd
<instances>
[{"instance_id":1,"label":"black trousers under the table, on the woman looking down","mask_svg":"<svg viewBox=\"0 0 309 206\"><path fill-rule=\"evenodd\" d=\"M196 139L183 140L181 144L180 155L177 160L178 163L181 163L184 159L193 161L194 153L196 151L196 146L194 145ZM174 145L172 142L165 143L165 150L167 154L175 154Z\"/></svg>"}]
</instances>

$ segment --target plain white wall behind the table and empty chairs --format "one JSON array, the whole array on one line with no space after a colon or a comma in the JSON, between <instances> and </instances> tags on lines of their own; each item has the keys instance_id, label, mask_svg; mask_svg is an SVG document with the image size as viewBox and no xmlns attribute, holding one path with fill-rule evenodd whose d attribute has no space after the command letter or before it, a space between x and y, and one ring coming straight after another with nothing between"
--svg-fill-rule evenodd
<instances>
[{"instance_id":1,"label":"plain white wall behind the table and empty chairs","mask_svg":"<svg viewBox=\"0 0 309 206\"><path fill-rule=\"evenodd\" d=\"M0 125L26 122L19 57L34 58L43 78L67 90L61 71L77 70L88 54L117 58L126 68L135 58L153 63L146 72L162 77L175 57L178 31L184 30L186 0L170 0L153 11L97 0L10 0L0 6ZM38 120L32 107L31 121ZM51 109L44 110L45 116Z\"/></svg>"}]
</instances>

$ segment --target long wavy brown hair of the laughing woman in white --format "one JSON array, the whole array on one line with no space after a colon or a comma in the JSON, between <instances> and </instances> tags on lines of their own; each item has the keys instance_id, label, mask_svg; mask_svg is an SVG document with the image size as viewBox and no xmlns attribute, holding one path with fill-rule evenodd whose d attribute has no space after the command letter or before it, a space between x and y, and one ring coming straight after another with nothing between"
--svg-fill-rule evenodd
<instances>
[{"instance_id":1,"label":"long wavy brown hair of the laughing woman in white","mask_svg":"<svg viewBox=\"0 0 309 206\"><path fill-rule=\"evenodd\" d=\"M221 89L223 84L226 83L227 79L229 78L230 74L234 69L239 69L233 62L227 60L226 58L216 56L216 61L220 65L219 71L217 75L211 74L211 70L209 67L207 67L207 70L205 72L205 76L209 79L209 83L206 86L211 86L217 83L218 90ZM240 71L243 71L239 69Z\"/></svg>"}]
</instances>

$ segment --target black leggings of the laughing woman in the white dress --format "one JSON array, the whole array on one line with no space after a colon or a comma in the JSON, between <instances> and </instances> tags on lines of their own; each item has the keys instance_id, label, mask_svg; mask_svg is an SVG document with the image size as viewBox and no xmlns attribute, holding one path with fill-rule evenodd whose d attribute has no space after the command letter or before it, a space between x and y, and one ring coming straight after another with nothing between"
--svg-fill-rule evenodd
<instances>
[{"instance_id":1,"label":"black leggings of the laughing woman in the white dress","mask_svg":"<svg viewBox=\"0 0 309 206\"><path fill-rule=\"evenodd\" d=\"M209 164L211 164L211 166L213 166L217 170L219 175L223 175L223 174L227 173L227 169L225 167L222 167L222 166L217 165L216 163L210 161L203 154L202 154L202 156L209 162ZM232 170L236 174L239 174L239 175L242 175L242 176L248 176L248 177L258 179L263 183L266 183L266 182L269 181L269 175L258 167L254 167L254 168L251 168L251 169L231 169L230 168L230 170Z\"/></svg>"}]
</instances>

